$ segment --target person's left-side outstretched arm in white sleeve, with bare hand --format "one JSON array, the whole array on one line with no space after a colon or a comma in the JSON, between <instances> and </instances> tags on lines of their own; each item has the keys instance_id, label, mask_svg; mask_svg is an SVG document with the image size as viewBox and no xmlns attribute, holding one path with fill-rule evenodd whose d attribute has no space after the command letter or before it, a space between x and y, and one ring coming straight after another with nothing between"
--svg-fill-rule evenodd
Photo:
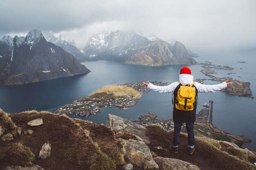
<instances>
[{"instance_id":1,"label":"person's left-side outstretched arm in white sleeve, with bare hand","mask_svg":"<svg viewBox=\"0 0 256 170\"><path fill-rule=\"evenodd\" d=\"M174 82L172 84L169 84L168 86L155 86L148 81L147 83L143 82L143 84L149 89L157 91L158 93L172 93L179 83Z\"/></svg>"}]
</instances>

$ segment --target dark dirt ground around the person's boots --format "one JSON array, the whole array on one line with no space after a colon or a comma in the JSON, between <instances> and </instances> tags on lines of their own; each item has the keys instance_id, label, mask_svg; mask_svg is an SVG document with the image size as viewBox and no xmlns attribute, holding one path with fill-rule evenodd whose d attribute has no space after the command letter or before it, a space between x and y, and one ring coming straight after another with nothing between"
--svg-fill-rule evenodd
<instances>
[{"instance_id":1,"label":"dark dirt ground around the person's boots","mask_svg":"<svg viewBox=\"0 0 256 170\"><path fill-rule=\"evenodd\" d=\"M155 152L157 156L159 157L168 157L168 158L174 158L174 159L180 159L182 161L189 162L191 164L194 164L198 166L201 170L242 170L242 167L235 167L234 163L232 163L233 160L230 160L230 166L225 165L225 161L221 160L221 155L218 155L219 153L214 153L215 151L212 150L212 148L207 148L205 146L200 146L200 141L197 141L195 139L195 152L193 155L189 155L187 153L187 147L188 147L188 139L185 135L180 135L180 142L179 142L179 148L178 148L178 154L174 154L170 151L170 146L173 142L173 133L168 132L165 130L162 130L161 128L153 128L147 127L148 132L147 136L150 139L150 144L148 144L148 147L150 150ZM156 146L162 146L164 150L156 150ZM214 153L214 154L212 154ZM218 159L216 159L219 157ZM223 157L225 159L225 157ZM227 160L226 160L227 161ZM256 161L256 160L254 160ZM249 170L247 167L245 169Z\"/></svg>"}]
</instances>

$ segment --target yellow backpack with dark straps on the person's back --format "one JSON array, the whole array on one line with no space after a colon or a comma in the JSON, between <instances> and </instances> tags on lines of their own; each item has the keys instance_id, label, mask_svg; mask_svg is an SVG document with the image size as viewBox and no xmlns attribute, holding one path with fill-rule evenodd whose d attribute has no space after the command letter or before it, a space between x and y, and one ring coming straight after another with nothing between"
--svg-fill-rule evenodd
<instances>
[{"instance_id":1,"label":"yellow backpack with dark straps on the person's back","mask_svg":"<svg viewBox=\"0 0 256 170\"><path fill-rule=\"evenodd\" d=\"M175 107L178 110L190 111L194 109L195 97L197 97L197 89L193 86L194 83L195 82L190 86L183 86L182 84L179 85L180 88L177 91L177 97L175 99Z\"/></svg>"}]
</instances>

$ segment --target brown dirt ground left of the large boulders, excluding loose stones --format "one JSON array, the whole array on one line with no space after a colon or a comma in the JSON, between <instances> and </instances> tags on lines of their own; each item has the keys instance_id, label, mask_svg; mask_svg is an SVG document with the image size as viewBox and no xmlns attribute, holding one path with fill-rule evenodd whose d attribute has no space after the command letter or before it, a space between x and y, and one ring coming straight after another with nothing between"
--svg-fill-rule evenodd
<instances>
[{"instance_id":1,"label":"brown dirt ground left of the large boulders, excluding loose stones","mask_svg":"<svg viewBox=\"0 0 256 170\"><path fill-rule=\"evenodd\" d=\"M118 158L122 146L115 140L111 134L111 130L106 126L94 125L97 129L97 135L103 136L105 143L95 143L93 137L89 137L87 132L79 126L74 120L65 116L41 113L20 113L10 115L14 123L22 127L22 130L33 130L33 135L17 135L11 141L0 141L0 146L4 147L8 144L22 142L23 145L29 147L35 154L34 164L43 167L45 170L97 170L101 163L106 164L106 169L113 169L115 163L121 163ZM40 126L27 126L27 122L42 118L43 124ZM88 123L88 129L91 127ZM86 128L86 124L83 125ZM93 128L90 128L93 136ZM104 135L105 134L105 135ZM106 135L108 134L108 135ZM99 138L100 139L100 138ZM50 141L52 150L51 156L47 159L40 159L39 152L45 142ZM107 146L107 147L105 147ZM0 147L0 148L1 148ZM100 150L101 148L102 150ZM114 152L113 152L114 151ZM112 159L108 159L108 155ZM123 159L123 158L122 158ZM6 165L13 165L13 160L5 158L0 162L0 169Z\"/></svg>"}]
</instances>

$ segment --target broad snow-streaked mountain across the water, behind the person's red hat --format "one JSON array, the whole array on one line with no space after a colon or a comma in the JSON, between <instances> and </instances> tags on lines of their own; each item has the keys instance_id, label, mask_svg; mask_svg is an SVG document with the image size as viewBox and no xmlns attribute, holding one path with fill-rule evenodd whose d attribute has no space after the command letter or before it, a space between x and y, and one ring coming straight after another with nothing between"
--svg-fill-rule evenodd
<instances>
[{"instance_id":1,"label":"broad snow-streaked mountain across the water, behind the person's red hat","mask_svg":"<svg viewBox=\"0 0 256 170\"><path fill-rule=\"evenodd\" d=\"M143 31L109 31L95 34L84 47L91 60L114 60L126 64L196 64L181 42L168 42Z\"/></svg>"}]
</instances>

